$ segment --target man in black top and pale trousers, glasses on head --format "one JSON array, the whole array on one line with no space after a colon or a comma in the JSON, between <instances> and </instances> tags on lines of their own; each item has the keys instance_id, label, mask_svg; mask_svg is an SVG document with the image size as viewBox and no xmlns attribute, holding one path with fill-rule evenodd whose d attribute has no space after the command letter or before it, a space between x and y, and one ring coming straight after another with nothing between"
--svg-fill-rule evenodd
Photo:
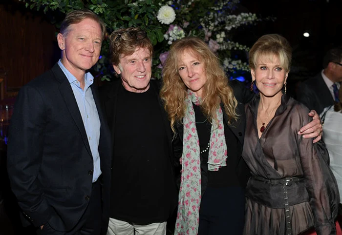
<instances>
[{"instance_id":1,"label":"man in black top and pale trousers, glasses on head","mask_svg":"<svg viewBox=\"0 0 342 235\"><path fill-rule=\"evenodd\" d=\"M121 79L101 92L112 135L107 235L165 235L177 203L170 122L151 78L152 43L138 28L110 35Z\"/></svg>"}]
</instances>

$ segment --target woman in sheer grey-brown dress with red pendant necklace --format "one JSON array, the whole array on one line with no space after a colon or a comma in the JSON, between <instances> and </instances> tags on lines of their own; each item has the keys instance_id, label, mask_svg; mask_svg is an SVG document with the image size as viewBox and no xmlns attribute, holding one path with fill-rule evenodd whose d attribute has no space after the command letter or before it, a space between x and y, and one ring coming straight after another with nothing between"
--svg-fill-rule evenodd
<instances>
[{"instance_id":1,"label":"woman in sheer grey-brown dress with red pendant necklace","mask_svg":"<svg viewBox=\"0 0 342 235\"><path fill-rule=\"evenodd\" d=\"M244 235L298 235L314 227L335 235L336 179L321 156L326 149L297 135L309 111L286 96L292 48L277 35L259 38L249 52L259 95L248 105L242 157L251 169ZM341 232L341 231L340 231Z\"/></svg>"}]
</instances>

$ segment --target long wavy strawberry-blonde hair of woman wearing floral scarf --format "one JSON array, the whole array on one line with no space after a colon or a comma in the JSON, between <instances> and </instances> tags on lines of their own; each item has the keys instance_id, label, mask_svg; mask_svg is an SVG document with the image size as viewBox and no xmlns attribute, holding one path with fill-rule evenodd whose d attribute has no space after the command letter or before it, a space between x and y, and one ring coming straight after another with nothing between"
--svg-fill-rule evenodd
<instances>
[{"instance_id":1,"label":"long wavy strawberry-blonde hair of woman wearing floral scarf","mask_svg":"<svg viewBox=\"0 0 342 235\"><path fill-rule=\"evenodd\" d=\"M179 76L178 61L185 52L191 53L204 63L207 81L203 87L201 108L209 120L217 121L216 110L222 102L228 123L237 119L235 108L237 101L232 87L228 85L228 78L223 71L219 59L201 39L195 37L176 40L170 47L170 53L163 68L163 86L160 96L164 101L164 108L171 121L171 129L175 133L174 124L181 121L185 115L187 87Z\"/></svg>"}]
</instances>

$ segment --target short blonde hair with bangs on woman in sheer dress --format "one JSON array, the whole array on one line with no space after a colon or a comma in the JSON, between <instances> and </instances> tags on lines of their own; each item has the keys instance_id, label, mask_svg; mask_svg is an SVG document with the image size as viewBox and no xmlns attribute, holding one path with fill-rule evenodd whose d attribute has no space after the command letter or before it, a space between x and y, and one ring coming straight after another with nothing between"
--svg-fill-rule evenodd
<instances>
[{"instance_id":1,"label":"short blonde hair with bangs on woman in sheer dress","mask_svg":"<svg viewBox=\"0 0 342 235\"><path fill-rule=\"evenodd\" d=\"M255 69L257 59L272 60L276 56L288 73L291 67L292 48L290 43L278 34L266 34L257 39L249 51L249 67Z\"/></svg>"}]
</instances>

